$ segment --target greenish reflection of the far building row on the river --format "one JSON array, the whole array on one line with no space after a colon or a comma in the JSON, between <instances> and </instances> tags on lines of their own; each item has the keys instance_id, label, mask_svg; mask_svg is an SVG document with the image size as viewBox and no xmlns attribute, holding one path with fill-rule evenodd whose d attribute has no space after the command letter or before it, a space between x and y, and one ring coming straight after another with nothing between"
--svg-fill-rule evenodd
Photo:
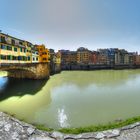
<instances>
[{"instance_id":1,"label":"greenish reflection of the far building row on the river","mask_svg":"<svg viewBox=\"0 0 140 140\"><path fill-rule=\"evenodd\" d=\"M80 73L80 74L79 74ZM100 70L100 71L73 71L63 72L52 79L57 82L54 87L67 85L76 85L79 87L87 87L91 84L97 86L119 86L126 83L128 80L134 80L140 75L140 70Z\"/></svg>"}]
</instances>

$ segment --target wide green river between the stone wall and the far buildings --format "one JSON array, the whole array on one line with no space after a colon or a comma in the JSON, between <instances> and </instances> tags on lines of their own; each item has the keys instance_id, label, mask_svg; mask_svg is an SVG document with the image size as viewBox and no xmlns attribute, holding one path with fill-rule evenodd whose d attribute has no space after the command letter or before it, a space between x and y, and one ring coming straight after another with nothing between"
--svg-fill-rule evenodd
<instances>
[{"instance_id":1,"label":"wide green river between the stone wall and the far buildings","mask_svg":"<svg viewBox=\"0 0 140 140\"><path fill-rule=\"evenodd\" d=\"M46 80L0 72L0 110L51 128L140 116L140 70L63 71Z\"/></svg>"}]
</instances>

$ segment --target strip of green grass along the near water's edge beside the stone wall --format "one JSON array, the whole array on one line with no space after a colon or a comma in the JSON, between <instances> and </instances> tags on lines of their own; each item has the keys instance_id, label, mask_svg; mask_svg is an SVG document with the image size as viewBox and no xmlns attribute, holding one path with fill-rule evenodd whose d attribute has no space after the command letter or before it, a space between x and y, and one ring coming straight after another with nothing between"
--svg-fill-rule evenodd
<instances>
[{"instance_id":1,"label":"strip of green grass along the near water's edge beside the stone wall","mask_svg":"<svg viewBox=\"0 0 140 140\"><path fill-rule=\"evenodd\" d=\"M104 131L108 129L120 128L126 125L133 124L135 122L140 121L140 116L129 118L126 120L121 120L119 122L108 123L106 125L97 125L97 126L89 126L89 127L79 127L79 128L61 128L57 131L66 133L66 134L80 134L80 133L87 133L87 132L97 132L97 131ZM52 128L47 128L43 125L35 125L38 129L44 131L53 131Z\"/></svg>"}]
</instances>

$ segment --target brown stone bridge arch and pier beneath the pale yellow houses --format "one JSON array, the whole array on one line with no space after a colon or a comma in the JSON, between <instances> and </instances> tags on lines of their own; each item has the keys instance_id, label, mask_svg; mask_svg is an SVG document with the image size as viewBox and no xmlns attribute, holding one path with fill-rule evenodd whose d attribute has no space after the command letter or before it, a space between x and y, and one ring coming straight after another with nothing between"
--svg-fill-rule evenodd
<instances>
[{"instance_id":1,"label":"brown stone bridge arch and pier beneath the pale yellow houses","mask_svg":"<svg viewBox=\"0 0 140 140\"><path fill-rule=\"evenodd\" d=\"M0 64L0 71L12 78L48 79L50 75L48 63Z\"/></svg>"}]
</instances>

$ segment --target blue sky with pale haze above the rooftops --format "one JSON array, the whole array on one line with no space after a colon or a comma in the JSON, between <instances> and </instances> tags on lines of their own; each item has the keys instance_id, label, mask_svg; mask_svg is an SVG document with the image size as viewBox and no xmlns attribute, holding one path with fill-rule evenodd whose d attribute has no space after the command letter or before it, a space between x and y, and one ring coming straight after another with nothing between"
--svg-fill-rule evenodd
<instances>
[{"instance_id":1,"label":"blue sky with pale haze above the rooftops","mask_svg":"<svg viewBox=\"0 0 140 140\"><path fill-rule=\"evenodd\" d=\"M140 52L140 0L0 0L0 29L55 50Z\"/></svg>"}]
</instances>

